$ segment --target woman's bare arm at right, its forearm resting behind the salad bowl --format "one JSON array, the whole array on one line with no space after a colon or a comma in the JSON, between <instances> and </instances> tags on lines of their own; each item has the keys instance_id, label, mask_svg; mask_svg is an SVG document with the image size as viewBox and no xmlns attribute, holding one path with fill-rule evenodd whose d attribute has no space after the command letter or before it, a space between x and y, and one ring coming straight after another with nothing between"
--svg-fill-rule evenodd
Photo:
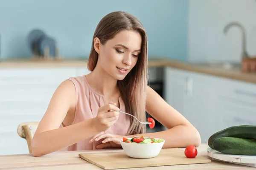
<instances>
[{"instance_id":1,"label":"woman's bare arm at right, its forearm resting behind the salad bowl","mask_svg":"<svg viewBox=\"0 0 256 170\"><path fill-rule=\"evenodd\" d=\"M168 130L140 135L164 139L166 142L163 147L165 148L188 145L198 147L201 144L198 130L149 86L147 86L146 108L147 112ZM129 137L134 136L138 134Z\"/></svg>"}]
</instances>

